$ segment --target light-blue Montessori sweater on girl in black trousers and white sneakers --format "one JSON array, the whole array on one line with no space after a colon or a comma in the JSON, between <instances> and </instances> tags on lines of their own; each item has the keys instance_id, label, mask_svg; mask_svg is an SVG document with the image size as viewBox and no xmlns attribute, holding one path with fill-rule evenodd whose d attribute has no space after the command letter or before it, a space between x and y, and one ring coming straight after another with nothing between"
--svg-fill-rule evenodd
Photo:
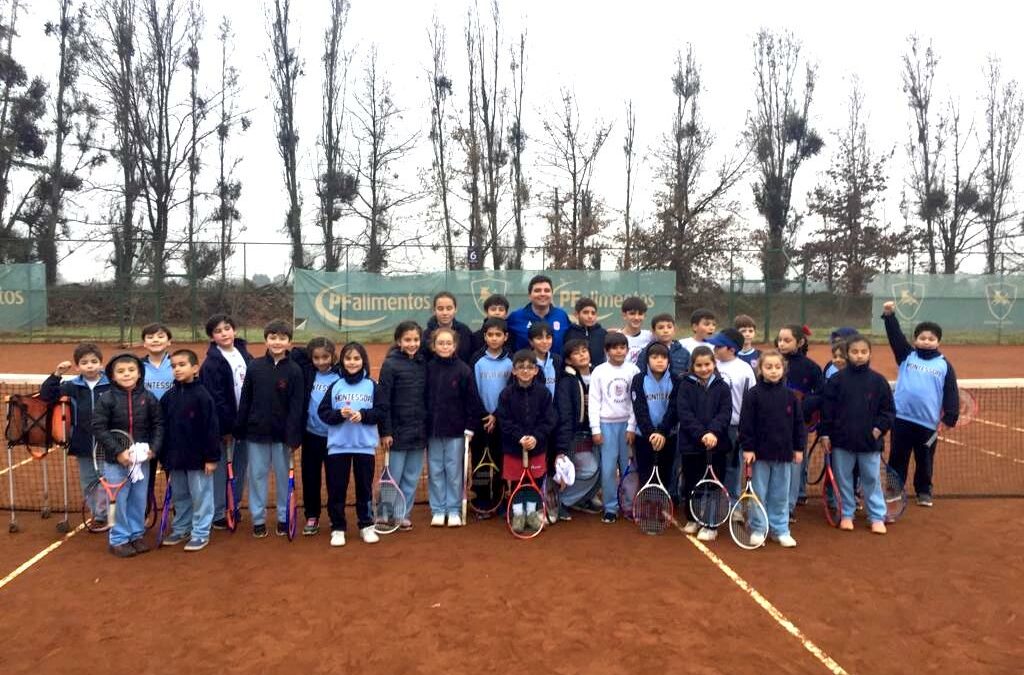
<instances>
[{"instance_id":1,"label":"light-blue Montessori sweater on girl in black trousers and white sneakers","mask_svg":"<svg viewBox=\"0 0 1024 675\"><path fill-rule=\"evenodd\" d=\"M335 380L321 399L316 414L327 427L328 455L373 455L380 442L377 424L380 411L374 407L377 385L359 372L345 373ZM358 422L341 415L345 407L359 413Z\"/></svg>"}]
</instances>

